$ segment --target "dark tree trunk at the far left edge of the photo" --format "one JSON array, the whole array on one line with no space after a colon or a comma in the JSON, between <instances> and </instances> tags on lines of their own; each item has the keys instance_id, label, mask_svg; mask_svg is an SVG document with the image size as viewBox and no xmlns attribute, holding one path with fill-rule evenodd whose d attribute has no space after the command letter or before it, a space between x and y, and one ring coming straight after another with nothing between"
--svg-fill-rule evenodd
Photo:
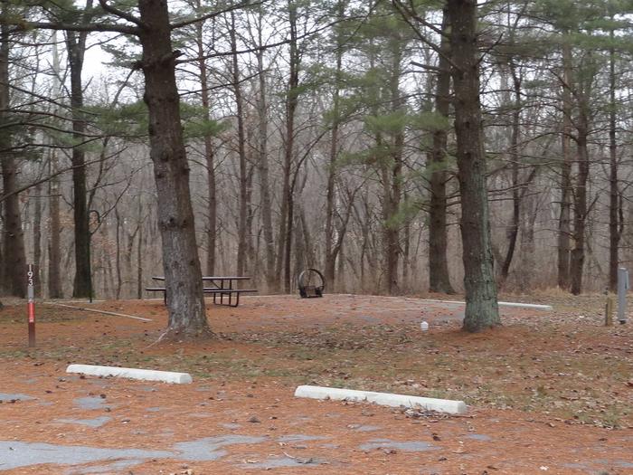
<instances>
[{"instance_id":1,"label":"dark tree trunk at the far left edge of the photo","mask_svg":"<svg viewBox=\"0 0 633 475\"><path fill-rule=\"evenodd\" d=\"M5 7L3 7L3 10ZM3 12L4 13L4 12ZM0 123L8 121L7 110L10 106L9 91L9 27L0 27ZM4 234L2 236L2 281L9 295L25 297L26 255L24 252L24 233L20 214L20 196L14 193L18 188L18 168L11 150L11 130L0 134L0 167L2 168L3 193L8 194L3 203Z\"/></svg>"}]
</instances>

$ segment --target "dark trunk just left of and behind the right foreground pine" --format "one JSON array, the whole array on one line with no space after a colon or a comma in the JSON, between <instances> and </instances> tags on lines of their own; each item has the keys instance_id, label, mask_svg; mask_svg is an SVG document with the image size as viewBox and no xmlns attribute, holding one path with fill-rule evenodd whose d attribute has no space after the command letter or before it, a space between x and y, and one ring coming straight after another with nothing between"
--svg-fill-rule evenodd
<instances>
[{"instance_id":1,"label":"dark trunk just left of and behind the right foreground pine","mask_svg":"<svg viewBox=\"0 0 633 475\"><path fill-rule=\"evenodd\" d=\"M442 31L449 31L449 12L445 8L442 16ZM435 93L435 112L444 118L449 117L450 108L450 70L447 57L450 44L442 36L440 49L446 56L439 56L438 84ZM449 181L447 171L447 130L438 128L433 132L433 149L430 154L430 211L429 211L429 290L453 294L450 285L449 263L447 261L448 234L446 185Z\"/></svg>"}]
</instances>

